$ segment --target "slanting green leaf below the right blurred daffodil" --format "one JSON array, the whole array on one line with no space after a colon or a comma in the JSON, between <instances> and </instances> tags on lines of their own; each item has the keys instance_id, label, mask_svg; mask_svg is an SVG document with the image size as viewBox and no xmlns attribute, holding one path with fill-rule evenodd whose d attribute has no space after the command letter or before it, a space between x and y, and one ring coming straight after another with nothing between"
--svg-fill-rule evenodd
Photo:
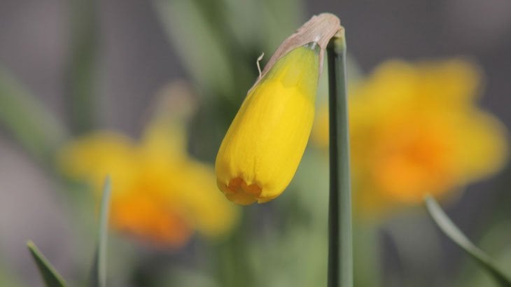
<instances>
[{"instance_id":1,"label":"slanting green leaf below the right blurred daffodil","mask_svg":"<svg viewBox=\"0 0 511 287\"><path fill-rule=\"evenodd\" d=\"M511 279L496 267L489 255L472 244L463 232L456 227L447 214L445 214L438 202L436 202L431 195L426 195L424 197L424 202L426 203L426 208L431 218L433 218L433 221L435 221L440 230L442 230L447 237L463 248L463 250L479 263L481 267L486 269L500 286L511 287Z\"/></svg>"}]
</instances>

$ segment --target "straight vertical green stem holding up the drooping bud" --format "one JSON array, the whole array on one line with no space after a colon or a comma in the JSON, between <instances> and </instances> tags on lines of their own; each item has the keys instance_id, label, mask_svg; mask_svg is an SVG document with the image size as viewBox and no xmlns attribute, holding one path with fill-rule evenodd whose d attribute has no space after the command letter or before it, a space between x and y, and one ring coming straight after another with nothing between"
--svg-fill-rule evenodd
<instances>
[{"instance_id":1,"label":"straight vertical green stem holding up the drooping bud","mask_svg":"<svg viewBox=\"0 0 511 287\"><path fill-rule=\"evenodd\" d=\"M327 53L330 112L328 287L352 287L351 183L344 29L330 40Z\"/></svg>"}]
</instances>

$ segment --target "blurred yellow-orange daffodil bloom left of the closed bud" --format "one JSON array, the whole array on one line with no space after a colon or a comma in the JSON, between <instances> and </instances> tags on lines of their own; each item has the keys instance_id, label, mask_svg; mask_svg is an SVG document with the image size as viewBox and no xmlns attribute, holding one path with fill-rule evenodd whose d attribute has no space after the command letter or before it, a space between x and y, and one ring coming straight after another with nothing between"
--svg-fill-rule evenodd
<instances>
[{"instance_id":1,"label":"blurred yellow-orange daffodil bloom left of the closed bud","mask_svg":"<svg viewBox=\"0 0 511 287\"><path fill-rule=\"evenodd\" d=\"M214 188L211 167L186 153L181 126L155 120L140 143L115 132L95 132L65 146L62 171L102 190L112 179L111 225L162 246L186 244L197 230L209 238L228 232L237 210Z\"/></svg>"}]
</instances>

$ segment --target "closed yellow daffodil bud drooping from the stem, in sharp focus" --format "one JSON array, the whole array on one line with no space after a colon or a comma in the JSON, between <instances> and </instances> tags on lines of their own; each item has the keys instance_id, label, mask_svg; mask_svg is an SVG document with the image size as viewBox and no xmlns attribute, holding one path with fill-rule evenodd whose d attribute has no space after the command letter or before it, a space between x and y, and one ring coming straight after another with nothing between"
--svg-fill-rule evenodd
<instances>
[{"instance_id":1,"label":"closed yellow daffodil bud drooping from the stem, in sharp focus","mask_svg":"<svg viewBox=\"0 0 511 287\"><path fill-rule=\"evenodd\" d=\"M314 42L290 50L248 91L216 157L228 200L268 202L293 179L314 119L318 53Z\"/></svg>"}]
</instances>

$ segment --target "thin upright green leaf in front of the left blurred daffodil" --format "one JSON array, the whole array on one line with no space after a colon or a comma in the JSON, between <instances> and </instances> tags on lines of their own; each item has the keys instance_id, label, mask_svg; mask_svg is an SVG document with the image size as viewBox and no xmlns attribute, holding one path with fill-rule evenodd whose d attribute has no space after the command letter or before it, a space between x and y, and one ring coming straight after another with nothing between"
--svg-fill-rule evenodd
<instances>
[{"instance_id":1,"label":"thin upright green leaf in front of the left blurred daffodil","mask_svg":"<svg viewBox=\"0 0 511 287\"><path fill-rule=\"evenodd\" d=\"M108 239L109 208L111 195L111 180L107 176L103 188L101 209L99 211L99 233L97 249L92 262L91 286L106 286L106 241Z\"/></svg>"}]
</instances>

